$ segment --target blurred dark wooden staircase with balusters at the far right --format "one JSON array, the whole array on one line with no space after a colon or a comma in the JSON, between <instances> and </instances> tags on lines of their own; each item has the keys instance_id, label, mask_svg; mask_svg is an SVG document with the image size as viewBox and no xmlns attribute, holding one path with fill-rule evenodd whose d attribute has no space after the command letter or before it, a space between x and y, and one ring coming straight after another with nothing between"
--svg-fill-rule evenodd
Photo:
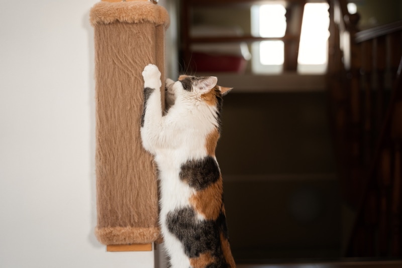
<instances>
[{"instance_id":1,"label":"blurred dark wooden staircase with balusters at the far right","mask_svg":"<svg viewBox=\"0 0 402 268\"><path fill-rule=\"evenodd\" d=\"M329 0L327 88L342 194L355 211L346 257L402 256L402 21L358 31Z\"/></svg>"}]
</instances>

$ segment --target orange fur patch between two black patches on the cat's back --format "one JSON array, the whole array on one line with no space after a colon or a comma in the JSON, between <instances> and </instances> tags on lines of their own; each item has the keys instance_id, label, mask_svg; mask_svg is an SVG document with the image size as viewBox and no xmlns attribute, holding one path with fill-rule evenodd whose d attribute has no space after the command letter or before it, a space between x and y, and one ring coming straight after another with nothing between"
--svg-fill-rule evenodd
<instances>
[{"instance_id":1,"label":"orange fur patch between two black patches on the cat's back","mask_svg":"<svg viewBox=\"0 0 402 268\"><path fill-rule=\"evenodd\" d=\"M216 183L192 195L190 204L207 220L216 220L222 209L222 193L223 181L220 177Z\"/></svg>"}]
</instances>

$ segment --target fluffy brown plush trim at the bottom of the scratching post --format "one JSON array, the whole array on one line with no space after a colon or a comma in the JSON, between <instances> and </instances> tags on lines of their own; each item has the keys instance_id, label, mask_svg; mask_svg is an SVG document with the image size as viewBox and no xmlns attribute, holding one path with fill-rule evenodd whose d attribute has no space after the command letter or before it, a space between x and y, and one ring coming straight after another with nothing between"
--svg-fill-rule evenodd
<instances>
[{"instance_id":1,"label":"fluffy brown plush trim at the bottom of the scratching post","mask_svg":"<svg viewBox=\"0 0 402 268\"><path fill-rule=\"evenodd\" d=\"M96 227L95 235L104 245L152 243L160 237L160 230L157 227Z\"/></svg>"}]
</instances>

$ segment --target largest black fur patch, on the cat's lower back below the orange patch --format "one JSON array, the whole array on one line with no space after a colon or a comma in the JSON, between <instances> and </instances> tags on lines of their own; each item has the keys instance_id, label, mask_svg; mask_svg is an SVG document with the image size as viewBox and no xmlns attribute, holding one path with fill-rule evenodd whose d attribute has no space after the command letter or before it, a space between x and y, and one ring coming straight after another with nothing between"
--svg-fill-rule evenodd
<instances>
[{"instance_id":1,"label":"largest black fur patch, on the cat's lower back below the orange patch","mask_svg":"<svg viewBox=\"0 0 402 268\"><path fill-rule=\"evenodd\" d=\"M216 262L208 267L228 266L221 246L221 233L227 237L225 214L221 212L217 220L199 221L194 210L187 207L169 212L166 224L169 232L182 243L189 258L209 252Z\"/></svg>"}]
</instances>

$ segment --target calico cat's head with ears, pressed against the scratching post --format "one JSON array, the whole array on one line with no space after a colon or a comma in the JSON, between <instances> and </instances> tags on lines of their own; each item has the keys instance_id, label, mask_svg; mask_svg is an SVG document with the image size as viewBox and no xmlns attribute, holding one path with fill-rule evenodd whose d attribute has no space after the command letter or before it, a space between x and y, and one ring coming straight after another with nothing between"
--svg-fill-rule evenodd
<instances>
[{"instance_id":1,"label":"calico cat's head with ears, pressed against the scratching post","mask_svg":"<svg viewBox=\"0 0 402 268\"><path fill-rule=\"evenodd\" d=\"M217 98L229 93L232 88L217 85L215 76L199 77L180 75L178 81L167 83L167 91L176 97L195 98L208 104L216 104Z\"/></svg>"}]
</instances>

